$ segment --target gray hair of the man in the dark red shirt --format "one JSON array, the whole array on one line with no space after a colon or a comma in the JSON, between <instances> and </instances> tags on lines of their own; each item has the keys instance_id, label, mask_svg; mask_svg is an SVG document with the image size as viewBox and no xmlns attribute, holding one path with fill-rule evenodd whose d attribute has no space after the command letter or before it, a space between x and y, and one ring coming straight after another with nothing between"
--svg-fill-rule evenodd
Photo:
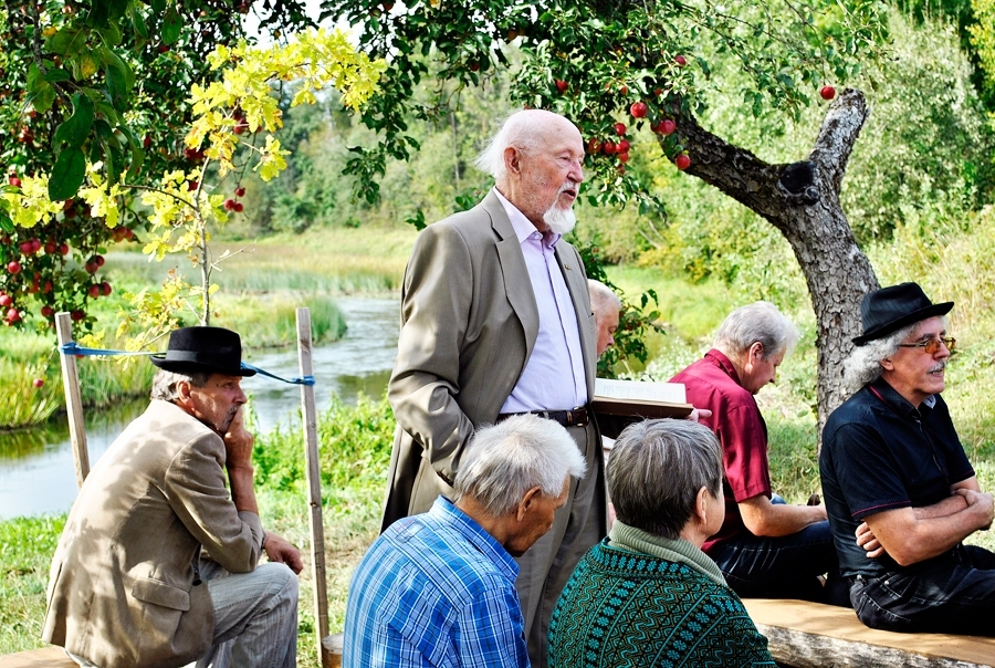
<instances>
[{"instance_id":1,"label":"gray hair of the man in the dark red shirt","mask_svg":"<svg viewBox=\"0 0 995 668\"><path fill-rule=\"evenodd\" d=\"M764 346L764 359L779 353L787 354L798 343L800 334L777 306L771 302L754 302L740 306L719 326L714 347L733 359L741 359L750 346Z\"/></svg>"}]
</instances>

